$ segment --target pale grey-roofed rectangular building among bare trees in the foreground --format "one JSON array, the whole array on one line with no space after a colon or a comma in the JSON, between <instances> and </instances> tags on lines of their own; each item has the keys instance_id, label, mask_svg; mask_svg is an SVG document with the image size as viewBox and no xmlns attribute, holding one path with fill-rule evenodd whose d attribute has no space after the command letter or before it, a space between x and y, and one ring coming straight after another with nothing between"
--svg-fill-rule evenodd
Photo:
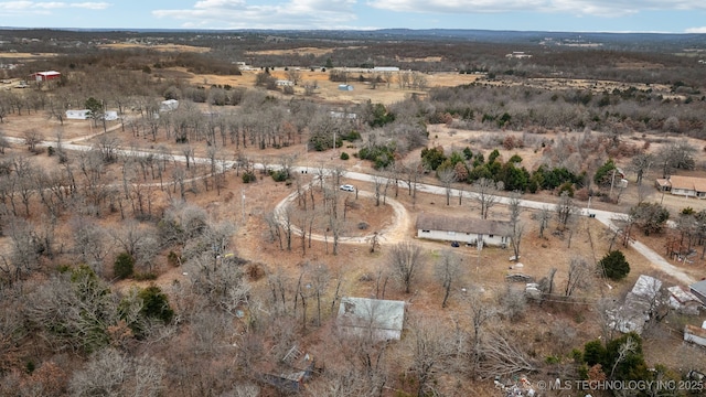
<instances>
[{"instance_id":1,"label":"pale grey-roofed rectangular building among bare trees in the foreground","mask_svg":"<svg viewBox=\"0 0 706 397\"><path fill-rule=\"evenodd\" d=\"M341 298L336 324L353 335L370 335L375 341L398 341L405 323L405 302Z\"/></svg>"}]
</instances>

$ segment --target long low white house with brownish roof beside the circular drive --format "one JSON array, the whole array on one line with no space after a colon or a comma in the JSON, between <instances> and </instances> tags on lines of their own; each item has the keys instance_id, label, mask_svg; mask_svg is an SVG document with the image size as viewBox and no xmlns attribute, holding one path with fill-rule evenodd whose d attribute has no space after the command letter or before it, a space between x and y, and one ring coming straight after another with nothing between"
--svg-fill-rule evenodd
<instances>
[{"instance_id":1,"label":"long low white house with brownish roof beside the circular drive","mask_svg":"<svg viewBox=\"0 0 706 397\"><path fill-rule=\"evenodd\" d=\"M421 213L417 215L417 237L441 242L505 247L512 239L510 222Z\"/></svg>"}]
</instances>

